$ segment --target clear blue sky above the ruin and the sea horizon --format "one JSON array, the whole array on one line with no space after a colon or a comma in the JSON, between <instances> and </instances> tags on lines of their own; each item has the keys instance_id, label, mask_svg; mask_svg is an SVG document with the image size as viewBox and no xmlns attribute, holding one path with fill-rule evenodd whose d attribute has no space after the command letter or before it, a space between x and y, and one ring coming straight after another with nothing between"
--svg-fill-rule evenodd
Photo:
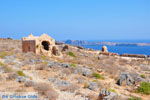
<instances>
[{"instance_id":1,"label":"clear blue sky above the ruin and the sea horizon","mask_svg":"<svg viewBox=\"0 0 150 100\"><path fill-rule=\"evenodd\" d=\"M0 37L150 40L150 0L0 0Z\"/></svg>"}]
</instances>

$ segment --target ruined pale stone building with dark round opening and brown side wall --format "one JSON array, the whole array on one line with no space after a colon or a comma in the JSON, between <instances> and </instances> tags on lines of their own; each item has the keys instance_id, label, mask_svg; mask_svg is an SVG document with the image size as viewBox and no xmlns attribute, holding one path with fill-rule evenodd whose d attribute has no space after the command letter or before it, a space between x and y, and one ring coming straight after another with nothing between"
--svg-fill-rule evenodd
<instances>
[{"instance_id":1,"label":"ruined pale stone building with dark round opening and brown side wall","mask_svg":"<svg viewBox=\"0 0 150 100\"><path fill-rule=\"evenodd\" d=\"M45 56L61 56L58 47L55 45L55 40L47 34L41 36L33 36L22 38L22 51L34 52L36 54L43 54Z\"/></svg>"}]
</instances>

